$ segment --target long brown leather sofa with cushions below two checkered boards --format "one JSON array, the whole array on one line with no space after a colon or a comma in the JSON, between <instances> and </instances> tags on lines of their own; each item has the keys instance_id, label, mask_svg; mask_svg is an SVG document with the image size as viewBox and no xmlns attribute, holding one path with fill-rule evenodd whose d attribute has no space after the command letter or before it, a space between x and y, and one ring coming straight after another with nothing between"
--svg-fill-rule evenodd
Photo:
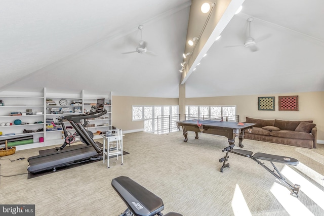
<instances>
[{"instance_id":1,"label":"long brown leather sofa with cushions below two checkered boards","mask_svg":"<svg viewBox=\"0 0 324 216\"><path fill-rule=\"evenodd\" d=\"M244 138L246 139L305 148L316 148L317 146L317 128L312 120L287 121L246 118L247 123L256 123L251 133L245 133Z\"/></svg>"}]
</instances>

